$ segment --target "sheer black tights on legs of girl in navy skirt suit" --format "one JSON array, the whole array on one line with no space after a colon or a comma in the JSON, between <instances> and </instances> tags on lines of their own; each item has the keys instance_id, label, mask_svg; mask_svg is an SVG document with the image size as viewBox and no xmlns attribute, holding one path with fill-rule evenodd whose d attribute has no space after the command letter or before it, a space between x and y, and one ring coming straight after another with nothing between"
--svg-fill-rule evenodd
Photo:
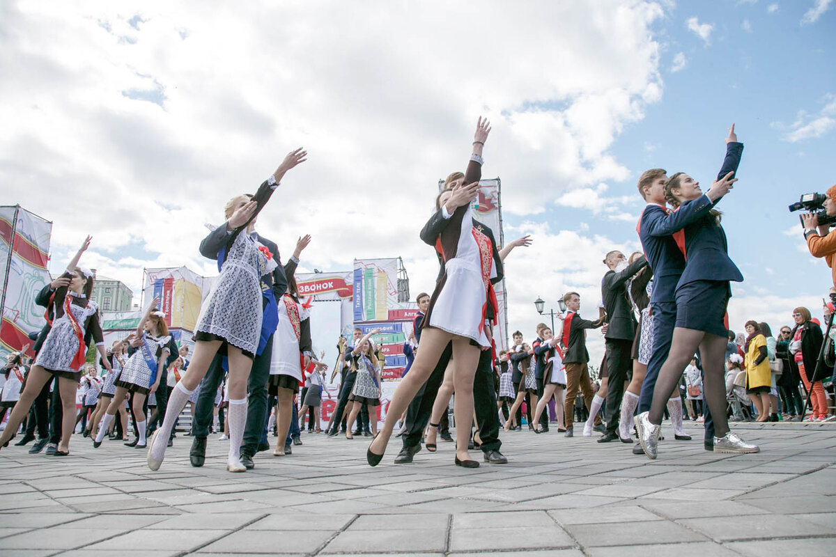
<instances>
[{"instance_id":1,"label":"sheer black tights on legs of girl in navy skirt suit","mask_svg":"<svg viewBox=\"0 0 836 557\"><path fill-rule=\"evenodd\" d=\"M665 415L665 404L670 393L682 377L682 372L699 349L702 357L703 391L711 417L714 418L714 434L724 437L729 431L726 418L726 337L708 332L676 327L670 343L670 352L659 371L653 389L653 403L650 404L650 423L659 425Z\"/></svg>"}]
</instances>

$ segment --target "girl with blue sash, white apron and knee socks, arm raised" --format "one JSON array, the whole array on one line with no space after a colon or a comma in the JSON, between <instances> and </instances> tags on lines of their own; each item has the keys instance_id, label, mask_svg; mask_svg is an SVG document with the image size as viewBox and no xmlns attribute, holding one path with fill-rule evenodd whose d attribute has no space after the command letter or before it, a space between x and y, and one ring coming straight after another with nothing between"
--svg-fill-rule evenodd
<instances>
[{"instance_id":1,"label":"girl with blue sash, white apron and knee socks, arm raised","mask_svg":"<svg viewBox=\"0 0 836 557\"><path fill-rule=\"evenodd\" d=\"M99 445L102 444L104 435L110 428L110 423L113 422L120 406L125 405L125 395L130 392L134 393L134 402L131 409L134 411L138 435L134 441L125 443L125 445L135 448L145 448L147 446L145 443L146 428L143 405L145 404L145 397L151 392L156 392L157 387L160 386L161 378L165 375L166 359L169 355L168 342L171 341L165 314L156 309L159 303L159 298L151 300L136 326L135 340L133 341L138 345L136 352L128 358L120 376L114 381L116 390L114 396L110 399L107 410L104 411L104 416L102 416L99 433L96 433L93 442L94 448L99 448Z\"/></svg>"}]
</instances>

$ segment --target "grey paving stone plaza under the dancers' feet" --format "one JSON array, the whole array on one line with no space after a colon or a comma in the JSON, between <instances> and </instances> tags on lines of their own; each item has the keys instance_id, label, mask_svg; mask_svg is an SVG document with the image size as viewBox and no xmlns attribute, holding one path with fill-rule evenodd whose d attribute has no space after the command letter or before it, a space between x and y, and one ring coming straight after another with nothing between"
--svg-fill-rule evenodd
<instances>
[{"instance_id":1,"label":"grey paving stone plaza under the dancers' feet","mask_svg":"<svg viewBox=\"0 0 836 557\"><path fill-rule=\"evenodd\" d=\"M395 438L370 468L369 438L324 434L238 474L217 436L191 468L179 434L158 472L121 442L74 436L67 458L10 446L0 554L836 554L836 424L732 427L762 453L707 452L687 422L694 440L661 442L655 461L553 429L503 433L511 462L475 470L443 442L395 465Z\"/></svg>"}]
</instances>

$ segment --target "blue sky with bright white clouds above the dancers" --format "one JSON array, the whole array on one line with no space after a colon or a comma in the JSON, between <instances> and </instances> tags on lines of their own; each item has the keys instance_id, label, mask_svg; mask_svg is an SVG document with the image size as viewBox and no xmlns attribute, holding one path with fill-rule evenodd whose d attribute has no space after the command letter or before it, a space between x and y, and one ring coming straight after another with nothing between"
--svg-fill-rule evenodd
<instances>
[{"instance_id":1,"label":"blue sky with bright white clouds above the dancers","mask_svg":"<svg viewBox=\"0 0 836 557\"><path fill-rule=\"evenodd\" d=\"M303 146L258 230L285 256L313 235L302 271L401 256L414 295L436 278L418 231L437 180L482 115L505 238L533 237L506 261L510 331L533 338L538 296L579 291L594 316L604 254L640 249L641 172L707 188L733 122L729 314L774 331L831 284L787 207L836 183L834 5L4 2L0 205L53 221L54 273L90 234L82 264L138 295L145 267L217 274L204 224Z\"/></svg>"}]
</instances>

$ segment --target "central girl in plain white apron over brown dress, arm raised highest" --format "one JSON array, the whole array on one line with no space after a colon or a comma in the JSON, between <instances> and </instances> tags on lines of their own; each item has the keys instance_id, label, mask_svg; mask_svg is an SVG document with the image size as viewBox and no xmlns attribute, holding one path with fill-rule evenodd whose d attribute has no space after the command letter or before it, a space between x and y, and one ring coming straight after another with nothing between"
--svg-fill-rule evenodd
<instances>
[{"instance_id":1,"label":"central girl in plain white apron over brown dress, arm raised highest","mask_svg":"<svg viewBox=\"0 0 836 557\"><path fill-rule=\"evenodd\" d=\"M490 131L487 120L480 118L464 182L441 192L436 198L436 213L421 230L421 240L435 246L441 256L441 274L421 323L418 355L409 374L395 389L384 426L366 452L371 466L380 463L395 423L449 343L455 366L456 423L472 423L473 378L479 351L491 348L491 327L486 316L497 315L492 285L502 280L498 248L480 230L482 225L473 218L472 211L472 201L479 194L482 148ZM455 462L476 468L479 463L467 453L468 438L469 435L456 435Z\"/></svg>"}]
</instances>

